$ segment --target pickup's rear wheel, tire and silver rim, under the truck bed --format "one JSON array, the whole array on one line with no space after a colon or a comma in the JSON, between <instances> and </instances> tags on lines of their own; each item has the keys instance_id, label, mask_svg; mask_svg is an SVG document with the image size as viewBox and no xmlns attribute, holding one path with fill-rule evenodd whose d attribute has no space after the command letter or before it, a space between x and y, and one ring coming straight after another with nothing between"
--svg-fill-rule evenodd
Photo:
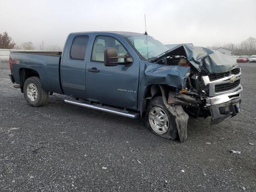
<instances>
[{"instance_id":1,"label":"pickup's rear wheel, tire and silver rim, under the truck bed","mask_svg":"<svg viewBox=\"0 0 256 192\"><path fill-rule=\"evenodd\" d=\"M43 106L47 103L49 92L42 88L38 77L27 78L23 86L26 102L33 107Z\"/></svg>"}]
</instances>

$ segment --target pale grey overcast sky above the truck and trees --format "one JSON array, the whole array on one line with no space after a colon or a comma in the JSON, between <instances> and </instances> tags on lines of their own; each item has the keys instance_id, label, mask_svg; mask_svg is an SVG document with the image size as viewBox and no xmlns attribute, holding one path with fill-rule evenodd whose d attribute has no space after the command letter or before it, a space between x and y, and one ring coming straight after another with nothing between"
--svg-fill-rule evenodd
<instances>
[{"instance_id":1,"label":"pale grey overcast sky above the truck and trees","mask_svg":"<svg viewBox=\"0 0 256 192\"><path fill-rule=\"evenodd\" d=\"M70 32L130 31L164 44L256 38L256 0L0 0L0 33L17 44L63 46Z\"/></svg>"}]
</instances>

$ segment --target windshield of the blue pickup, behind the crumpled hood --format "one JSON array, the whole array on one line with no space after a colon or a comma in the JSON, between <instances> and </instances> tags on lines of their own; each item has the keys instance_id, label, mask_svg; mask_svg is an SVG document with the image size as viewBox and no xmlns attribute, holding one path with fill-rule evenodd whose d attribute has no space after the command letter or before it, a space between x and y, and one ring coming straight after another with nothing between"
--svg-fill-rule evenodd
<instances>
[{"instance_id":1,"label":"windshield of the blue pickup, behind the crumpled hood","mask_svg":"<svg viewBox=\"0 0 256 192\"><path fill-rule=\"evenodd\" d=\"M168 50L164 44L148 35L131 35L125 36L125 38L146 60L156 57Z\"/></svg>"}]
</instances>

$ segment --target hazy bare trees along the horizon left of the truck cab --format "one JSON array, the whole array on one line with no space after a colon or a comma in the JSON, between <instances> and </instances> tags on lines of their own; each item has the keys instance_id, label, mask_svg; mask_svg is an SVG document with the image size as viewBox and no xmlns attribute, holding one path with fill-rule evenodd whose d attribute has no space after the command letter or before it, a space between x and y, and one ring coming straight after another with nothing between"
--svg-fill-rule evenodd
<instances>
[{"instance_id":1,"label":"hazy bare trees along the horizon left of the truck cab","mask_svg":"<svg viewBox=\"0 0 256 192\"><path fill-rule=\"evenodd\" d=\"M0 33L0 49L23 49L23 50L38 50L32 42L24 42L21 45L14 43L12 38L7 32ZM39 46L39 50L42 51L62 51L62 47L58 45L45 46L44 41Z\"/></svg>"}]
</instances>

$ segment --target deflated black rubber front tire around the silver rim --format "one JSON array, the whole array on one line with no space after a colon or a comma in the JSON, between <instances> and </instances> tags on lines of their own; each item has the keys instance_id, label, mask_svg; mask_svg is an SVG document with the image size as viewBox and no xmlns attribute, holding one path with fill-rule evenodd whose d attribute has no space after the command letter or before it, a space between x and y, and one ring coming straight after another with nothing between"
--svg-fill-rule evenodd
<instances>
[{"instance_id":1,"label":"deflated black rubber front tire around the silver rim","mask_svg":"<svg viewBox=\"0 0 256 192\"><path fill-rule=\"evenodd\" d=\"M156 131L153 130L153 128L150 125L150 120L148 117L149 117L150 110L154 107L160 107L165 112L165 114L168 116L168 120L169 120L168 130L164 134L158 134ZM176 140L179 136L178 128L177 128L177 125L175 122L175 116L173 116L169 112L169 110L166 108L162 97L154 97L149 101L147 110L146 110L145 121L146 121L146 127L148 128L148 130L150 130L150 132L152 132L160 137L170 139L170 140Z\"/></svg>"}]
</instances>

